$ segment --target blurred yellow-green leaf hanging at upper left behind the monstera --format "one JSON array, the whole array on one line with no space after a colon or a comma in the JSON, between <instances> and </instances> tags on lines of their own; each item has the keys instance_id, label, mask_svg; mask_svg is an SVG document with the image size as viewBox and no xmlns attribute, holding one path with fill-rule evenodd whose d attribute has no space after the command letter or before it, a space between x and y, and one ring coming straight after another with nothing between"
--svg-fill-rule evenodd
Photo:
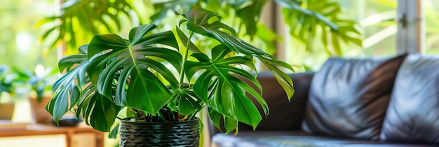
<instances>
[{"instance_id":1,"label":"blurred yellow-green leaf hanging at upper left behind the monstera","mask_svg":"<svg viewBox=\"0 0 439 147\"><path fill-rule=\"evenodd\" d=\"M136 18L138 13L128 1L68 0L62 3L59 15L40 20L37 27L50 26L41 36L42 41L50 41L50 48L65 41L69 50L74 50L84 43L83 38L121 31L126 25L126 21L121 19L123 15L129 21L140 20ZM55 39L50 39L50 35L55 36Z\"/></svg>"}]
</instances>

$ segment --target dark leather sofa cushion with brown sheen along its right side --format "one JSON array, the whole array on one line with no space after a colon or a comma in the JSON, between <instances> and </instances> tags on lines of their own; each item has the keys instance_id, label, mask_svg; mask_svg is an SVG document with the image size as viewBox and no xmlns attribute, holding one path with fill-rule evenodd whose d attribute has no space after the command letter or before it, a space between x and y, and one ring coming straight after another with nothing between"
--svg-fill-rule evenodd
<instances>
[{"instance_id":1,"label":"dark leather sofa cushion with brown sheen along its right side","mask_svg":"<svg viewBox=\"0 0 439 147\"><path fill-rule=\"evenodd\" d=\"M328 59L311 82L304 132L379 140L396 72L404 58Z\"/></svg>"}]
</instances>

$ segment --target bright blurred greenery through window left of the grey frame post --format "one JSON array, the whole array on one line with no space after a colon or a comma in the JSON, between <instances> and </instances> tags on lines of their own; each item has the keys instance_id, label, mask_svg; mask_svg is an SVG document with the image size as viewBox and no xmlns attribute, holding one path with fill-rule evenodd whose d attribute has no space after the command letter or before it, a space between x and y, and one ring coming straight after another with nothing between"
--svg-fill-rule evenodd
<instances>
[{"instance_id":1,"label":"bright blurred greenery through window left of the grey frame post","mask_svg":"<svg viewBox=\"0 0 439 147\"><path fill-rule=\"evenodd\" d=\"M363 48L344 45L342 57L386 57L396 55L397 0L335 0L343 8L342 18L356 20L363 31ZM287 28L288 30L289 28ZM317 71L332 55L313 43L314 49L306 48L309 43L285 36L285 59L297 64L296 70Z\"/></svg>"}]
</instances>

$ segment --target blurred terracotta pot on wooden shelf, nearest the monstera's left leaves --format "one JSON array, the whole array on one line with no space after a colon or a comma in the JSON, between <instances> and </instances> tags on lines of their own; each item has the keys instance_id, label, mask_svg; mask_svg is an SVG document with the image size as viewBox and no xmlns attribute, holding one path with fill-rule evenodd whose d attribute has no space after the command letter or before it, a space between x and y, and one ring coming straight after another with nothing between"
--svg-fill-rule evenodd
<instances>
[{"instance_id":1,"label":"blurred terracotta pot on wooden shelf, nearest the monstera's left leaves","mask_svg":"<svg viewBox=\"0 0 439 147\"><path fill-rule=\"evenodd\" d=\"M50 101L50 97L43 97L43 101L37 102L35 98L29 97L29 105L31 108L34 123L48 124L53 117L46 111L46 104Z\"/></svg>"}]
</instances>

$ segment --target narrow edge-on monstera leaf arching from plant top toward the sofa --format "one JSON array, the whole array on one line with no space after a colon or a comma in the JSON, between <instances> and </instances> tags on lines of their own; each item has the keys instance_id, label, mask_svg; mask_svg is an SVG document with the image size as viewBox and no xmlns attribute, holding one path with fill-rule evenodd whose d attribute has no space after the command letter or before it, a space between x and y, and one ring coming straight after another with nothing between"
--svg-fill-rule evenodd
<instances>
[{"instance_id":1,"label":"narrow edge-on monstera leaf arching from plant top toward the sofa","mask_svg":"<svg viewBox=\"0 0 439 147\"><path fill-rule=\"evenodd\" d=\"M235 36L236 31L228 25L220 22L221 17L217 15L217 13L213 13L202 8L196 8L189 10L182 15L184 18L186 18L186 20L181 21L180 25L183 22L186 22L187 29L203 36L215 38L217 41L219 41L219 43L227 46L227 48L233 52L242 53L248 56L255 56L262 60L262 63L275 74L276 79L279 83L281 83L285 92L288 94L288 97L292 97L292 94L294 94L292 80L281 69L278 69L278 66L282 66L286 69L294 71L289 64L278 61L269 53L264 52L263 50L260 50L249 43L246 43L240 38L237 38ZM210 22L212 20L215 21Z\"/></svg>"}]
</instances>

